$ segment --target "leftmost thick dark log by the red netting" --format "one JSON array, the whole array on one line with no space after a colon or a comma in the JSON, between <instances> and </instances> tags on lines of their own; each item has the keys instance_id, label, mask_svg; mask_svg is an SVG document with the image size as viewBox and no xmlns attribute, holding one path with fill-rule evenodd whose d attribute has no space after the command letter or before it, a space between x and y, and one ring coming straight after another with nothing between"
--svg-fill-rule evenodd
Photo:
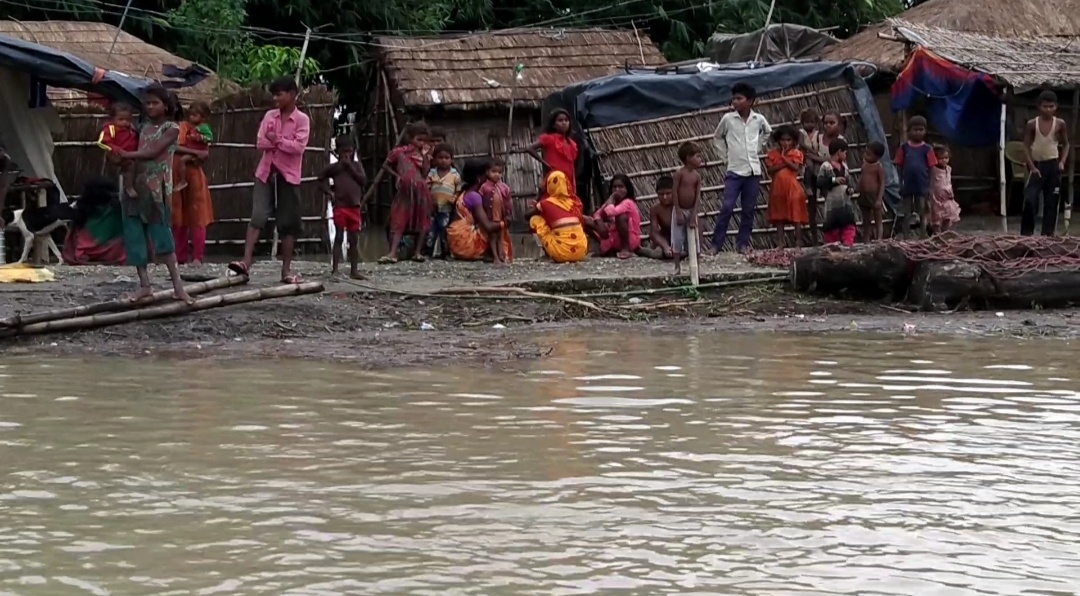
<instances>
[{"instance_id":1,"label":"leftmost thick dark log by the red netting","mask_svg":"<svg viewBox=\"0 0 1080 596\"><path fill-rule=\"evenodd\" d=\"M845 298L900 300L910 284L910 262L891 244L836 244L811 248L792 261L792 286Z\"/></svg>"}]
</instances>

